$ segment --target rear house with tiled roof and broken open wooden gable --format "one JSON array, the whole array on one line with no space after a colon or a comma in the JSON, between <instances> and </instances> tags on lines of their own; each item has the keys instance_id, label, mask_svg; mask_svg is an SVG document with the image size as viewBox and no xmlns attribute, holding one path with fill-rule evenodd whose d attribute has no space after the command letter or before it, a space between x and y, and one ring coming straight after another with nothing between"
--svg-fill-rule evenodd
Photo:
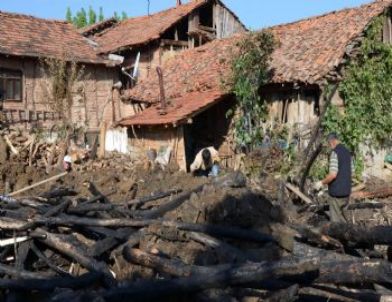
<instances>
[{"instance_id":1,"label":"rear house with tiled roof and broken open wooden gable","mask_svg":"<svg viewBox=\"0 0 392 302\"><path fill-rule=\"evenodd\" d=\"M138 79L143 79L151 72L155 73L156 66L179 50L195 48L245 30L238 17L220 0L190 0L187 3L178 0L173 8L118 23L107 20L82 33L95 40L99 54L123 56L123 67L130 75L140 53ZM122 81L126 88L135 84L125 74Z\"/></svg>"}]
</instances>

